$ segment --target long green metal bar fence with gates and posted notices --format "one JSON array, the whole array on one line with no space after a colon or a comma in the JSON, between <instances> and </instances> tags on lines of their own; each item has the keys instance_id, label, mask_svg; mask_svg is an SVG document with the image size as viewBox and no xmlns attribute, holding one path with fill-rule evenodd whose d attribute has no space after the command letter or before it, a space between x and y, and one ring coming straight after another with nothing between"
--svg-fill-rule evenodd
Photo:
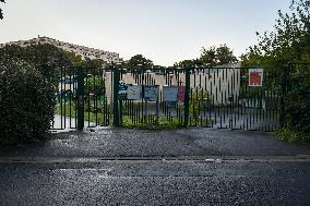
<instances>
[{"instance_id":1,"label":"long green metal bar fence with gates and posted notices","mask_svg":"<svg viewBox=\"0 0 310 206\"><path fill-rule=\"evenodd\" d=\"M253 68L126 70L63 68L52 129L174 125L274 131L282 116L283 76Z\"/></svg>"}]
</instances>

